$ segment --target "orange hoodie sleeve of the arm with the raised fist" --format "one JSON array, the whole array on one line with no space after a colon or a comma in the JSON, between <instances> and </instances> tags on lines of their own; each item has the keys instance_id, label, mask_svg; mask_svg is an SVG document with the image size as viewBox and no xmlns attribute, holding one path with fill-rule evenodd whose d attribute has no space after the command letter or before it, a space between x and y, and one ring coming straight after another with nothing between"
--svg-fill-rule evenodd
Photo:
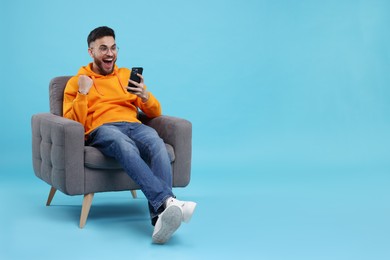
<instances>
[{"instance_id":1,"label":"orange hoodie sleeve of the arm with the raised fist","mask_svg":"<svg viewBox=\"0 0 390 260\"><path fill-rule=\"evenodd\" d=\"M78 92L78 77L72 77L65 87L63 114L65 118L85 126L88 113L88 97Z\"/></svg>"}]
</instances>

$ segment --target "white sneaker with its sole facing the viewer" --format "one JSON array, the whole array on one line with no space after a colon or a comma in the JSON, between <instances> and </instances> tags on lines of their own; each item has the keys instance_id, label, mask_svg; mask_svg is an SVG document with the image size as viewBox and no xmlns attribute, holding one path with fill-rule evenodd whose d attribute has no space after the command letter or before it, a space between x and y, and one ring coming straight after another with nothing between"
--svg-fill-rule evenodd
<instances>
[{"instance_id":1,"label":"white sneaker with its sole facing the viewer","mask_svg":"<svg viewBox=\"0 0 390 260\"><path fill-rule=\"evenodd\" d=\"M177 205L169 205L158 216L156 225L153 231L153 242L164 244L167 242L173 233L180 227L183 218L183 213Z\"/></svg>"}]
</instances>

